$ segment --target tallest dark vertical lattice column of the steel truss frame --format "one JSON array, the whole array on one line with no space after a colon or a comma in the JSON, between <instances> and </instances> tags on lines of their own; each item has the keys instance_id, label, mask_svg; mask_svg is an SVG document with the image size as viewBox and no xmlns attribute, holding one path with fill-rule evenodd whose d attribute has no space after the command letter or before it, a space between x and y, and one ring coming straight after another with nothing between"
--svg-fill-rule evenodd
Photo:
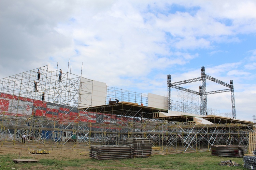
<instances>
[{"instance_id":1,"label":"tallest dark vertical lattice column of the steel truss frame","mask_svg":"<svg viewBox=\"0 0 256 170\"><path fill-rule=\"evenodd\" d=\"M202 93L200 94L200 97L202 96L202 110L201 115L207 115L207 97L206 97L206 81L205 81L205 69L204 67L201 67L201 78L202 78ZM201 105L201 103L200 103Z\"/></svg>"}]
</instances>

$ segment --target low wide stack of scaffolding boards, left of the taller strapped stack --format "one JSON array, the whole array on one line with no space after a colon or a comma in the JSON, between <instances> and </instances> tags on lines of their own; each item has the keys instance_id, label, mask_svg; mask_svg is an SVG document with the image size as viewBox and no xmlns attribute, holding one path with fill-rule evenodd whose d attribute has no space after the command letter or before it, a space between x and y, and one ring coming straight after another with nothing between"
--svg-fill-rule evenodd
<instances>
[{"instance_id":1,"label":"low wide stack of scaffolding boards, left of the taller strapped stack","mask_svg":"<svg viewBox=\"0 0 256 170\"><path fill-rule=\"evenodd\" d=\"M125 145L95 145L90 147L90 157L98 160L132 158L132 147Z\"/></svg>"}]
</instances>

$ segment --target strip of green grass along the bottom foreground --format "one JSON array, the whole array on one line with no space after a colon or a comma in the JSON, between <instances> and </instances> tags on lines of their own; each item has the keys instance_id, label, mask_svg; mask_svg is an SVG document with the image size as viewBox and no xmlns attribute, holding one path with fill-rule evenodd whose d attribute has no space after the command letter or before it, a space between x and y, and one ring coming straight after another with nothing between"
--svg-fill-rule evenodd
<instances>
[{"instance_id":1,"label":"strip of green grass along the bottom foreground","mask_svg":"<svg viewBox=\"0 0 256 170\"><path fill-rule=\"evenodd\" d=\"M72 167L72 169L136 169L136 168L155 168L155 169L245 169L243 168L243 158L212 156L211 152L171 154L171 155L152 155L148 158L132 159L108 159L97 160L94 158L81 159L40 159L38 163L13 163L14 155L4 155L0 157L0 169L63 169ZM22 157L24 158L24 157ZM28 158L28 157L26 157ZM30 157L33 158L33 157ZM218 165L221 161L232 160L241 166L228 167Z\"/></svg>"}]
</instances>

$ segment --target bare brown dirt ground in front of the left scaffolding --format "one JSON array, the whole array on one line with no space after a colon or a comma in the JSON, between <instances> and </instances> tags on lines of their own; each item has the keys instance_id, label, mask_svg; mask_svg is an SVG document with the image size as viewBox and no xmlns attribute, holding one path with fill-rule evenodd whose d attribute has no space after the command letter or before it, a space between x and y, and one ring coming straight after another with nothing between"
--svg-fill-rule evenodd
<instances>
[{"instance_id":1,"label":"bare brown dirt ground in front of the left scaffolding","mask_svg":"<svg viewBox=\"0 0 256 170\"><path fill-rule=\"evenodd\" d=\"M49 154L32 154L32 150L47 150L50 151ZM72 143L66 145L65 147L56 147L50 145L33 145L31 143L27 143L24 145L23 143L17 143L15 146L12 145L4 145L4 147L0 147L0 155L12 154L15 155L13 159L21 159L22 157L32 157L33 159L57 159L57 160L65 160L65 159L87 159L89 157L89 147L88 146L76 146ZM90 158L93 159L93 158ZM41 164L35 164L35 166L30 164L30 169L47 169L49 167L45 167ZM64 170L87 170L87 169L126 169L132 170L134 168L130 167L108 167L108 166L97 166L97 165L84 165L84 167L63 167ZM25 170L27 168L18 168L19 170ZM145 168L137 168L141 170L145 170ZM147 169L150 170L150 169ZM152 169L153 170L153 169ZM155 169L154 169L155 170Z\"/></svg>"}]
</instances>

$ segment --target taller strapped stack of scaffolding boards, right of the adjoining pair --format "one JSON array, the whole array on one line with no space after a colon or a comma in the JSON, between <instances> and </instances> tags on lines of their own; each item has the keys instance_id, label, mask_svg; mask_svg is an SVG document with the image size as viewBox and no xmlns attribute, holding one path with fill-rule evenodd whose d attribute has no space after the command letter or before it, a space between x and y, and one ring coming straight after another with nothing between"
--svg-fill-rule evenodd
<instances>
[{"instance_id":1,"label":"taller strapped stack of scaffolding boards, right of the adjoining pair","mask_svg":"<svg viewBox=\"0 0 256 170\"><path fill-rule=\"evenodd\" d=\"M150 157L152 153L152 139L127 138L128 146L133 148L133 157Z\"/></svg>"}]
</instances>

